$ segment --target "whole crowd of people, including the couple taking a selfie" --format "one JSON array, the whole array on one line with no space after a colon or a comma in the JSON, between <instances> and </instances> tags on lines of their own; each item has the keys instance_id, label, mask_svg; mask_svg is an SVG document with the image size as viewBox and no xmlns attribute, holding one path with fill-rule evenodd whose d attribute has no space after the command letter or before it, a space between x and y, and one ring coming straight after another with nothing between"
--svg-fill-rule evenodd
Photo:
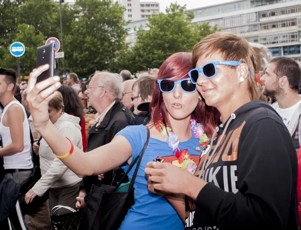
<instances>
[{"instance_id":1,"label":"whole crowd of people, including the couple taking a selfie","mask_svg":"<svg viewBox=\"0 0 301 230\"><path fill-rule=\"evenodd\" d=\"M44 65L18 85L0 68L1 229L51 229L56 205L84 210L93 184L116 185L137 164L148 132L119 229L298 229L300 66L279 56L257 70L255 60L244 38L216 32L134 79L95 71L36 84Z\"/></svg>"}]
</instances>

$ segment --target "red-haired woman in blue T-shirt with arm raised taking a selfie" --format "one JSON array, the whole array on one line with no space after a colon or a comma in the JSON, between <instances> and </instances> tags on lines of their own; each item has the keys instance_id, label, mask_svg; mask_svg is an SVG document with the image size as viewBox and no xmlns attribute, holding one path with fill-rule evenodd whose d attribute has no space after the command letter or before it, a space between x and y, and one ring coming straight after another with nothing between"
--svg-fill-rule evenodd
<instances>
[{"instance_id":1,"label":"red-haired woman in blue T-shirt with arm raised taking a selfie","mask_svg":"<svg viewBox=\"0 0 301 230\"><path fill-rule=\"evenodd\" d=\"M196 85L188 76L191 69L191 53L175 53L162 64L154 84L152 118L148 125L150 138L143 154L134 183L134 205L128 210L120 229L183 229L185 210L181 208L184 196L168 197L147 190L144 174L150 160L172 162L181 170L193 173L214 130L211 107L202 101ZM127 170L131 160L140 153L147 137L144 125L127 126L114 139L90 152L83 153L74 146L70 155L70 143L49 122L48 101L60 86L59 78L51 77L36 84L36 79L46 66L31 73L28 101L35 126L55 154L79 176L97 175L122 165ZM122 149L122 150L121 150ZM66 154L67 153L67 154ZM68 154L69 153L69 154ZM135 167L128 176L132 177ZM175 208L182 212L177 214ZM182 220L181 220L181 217Z\"/></svg>"}]
</instances>

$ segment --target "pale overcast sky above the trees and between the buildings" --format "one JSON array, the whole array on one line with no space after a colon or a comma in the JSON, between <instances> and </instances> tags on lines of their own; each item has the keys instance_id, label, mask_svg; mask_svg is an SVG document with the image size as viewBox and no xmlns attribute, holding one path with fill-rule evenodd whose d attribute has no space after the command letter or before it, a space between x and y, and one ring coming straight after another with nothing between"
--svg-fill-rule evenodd
<instances>
[{"instance_id":1,"label":"pale overcast sky above the trees and between the buildings","mask_svg":"<svg viewBox=\"0 0 301 230\"><path fill-rule=\"evenodd\" d=\"M140 0L142 1L157 1L160 3L160 11L165 12L165 8L172 2L178 2L180 5L185 5L187 9L194 9L208 5L215 5L219 3L230 2L233 0Z\"/></svg>"}]
</instances>

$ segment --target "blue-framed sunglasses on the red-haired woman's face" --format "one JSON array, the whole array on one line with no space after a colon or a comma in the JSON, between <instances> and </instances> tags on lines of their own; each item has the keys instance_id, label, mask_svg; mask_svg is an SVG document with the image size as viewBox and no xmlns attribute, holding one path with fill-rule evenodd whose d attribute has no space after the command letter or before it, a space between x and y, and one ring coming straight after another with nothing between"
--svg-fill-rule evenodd
<instances>
[{"instance_id":1,"label":"blue-framed sunglasses on the red-haired woman's face","mask_svg":"<svg viewBox=\"0 0 301 230\"><path fill-rule=\"evenodd\" d=\"M179 84L184 92L195 92L197 90L196 84L192 83L190 78L173 81L171 78L159 79L157 80L159 84L160 91L162 92L172 92Z\"/></svg>"}]
</instances>

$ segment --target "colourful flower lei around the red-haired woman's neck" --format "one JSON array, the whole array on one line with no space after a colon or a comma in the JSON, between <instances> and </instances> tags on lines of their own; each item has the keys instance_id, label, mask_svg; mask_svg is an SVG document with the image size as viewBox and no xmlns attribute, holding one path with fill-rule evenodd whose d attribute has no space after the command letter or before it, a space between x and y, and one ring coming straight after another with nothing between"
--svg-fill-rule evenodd
<instances>
[{"instance_id":1,"label":"colourful flower lei around the red-haired woman's neck","mask_svg":"<svg viewBox=\"0 0 301 230\"><path fill-rule=\"evenodd\" d=\"M210 139L204 132L202 125L197 123L195 119L190 119L189 126L195 137L200 139L201 147L206 147ZM181 164L181 168L193 174L197 169L197 163L191 159L188 148L183 150L179 148L180 140L178 139L178 135L176 135L170 127L165 127L162 114L159 116L159 125L156 125L156 129L161 132L163 137L167 137L166 142L168 143L168 146L173 149L173 153L176 154L179 164ZM196 149L197 151L201 150L200 146L197 146Z\"/></svg>"}]
</instances>

